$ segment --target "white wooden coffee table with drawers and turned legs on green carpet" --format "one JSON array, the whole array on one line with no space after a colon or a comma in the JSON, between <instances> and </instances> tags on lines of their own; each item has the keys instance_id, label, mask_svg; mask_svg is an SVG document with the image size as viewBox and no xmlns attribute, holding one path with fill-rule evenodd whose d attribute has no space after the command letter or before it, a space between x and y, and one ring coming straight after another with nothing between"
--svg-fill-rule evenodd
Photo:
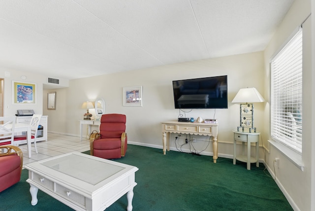
<instances>
[{"instance_id":1,"label":"white wooden coffee table with drawers and turned legs on green carpet","mask_svg":"<svg viewBox=\"0 0 315 211\"><path fill-rule=\"evenodd\" d=\"M127 195L132 210L137 167L71 152L27 164L32 205L38 189L76 211L103 211Z\"/></svg>"}]
</instances>

